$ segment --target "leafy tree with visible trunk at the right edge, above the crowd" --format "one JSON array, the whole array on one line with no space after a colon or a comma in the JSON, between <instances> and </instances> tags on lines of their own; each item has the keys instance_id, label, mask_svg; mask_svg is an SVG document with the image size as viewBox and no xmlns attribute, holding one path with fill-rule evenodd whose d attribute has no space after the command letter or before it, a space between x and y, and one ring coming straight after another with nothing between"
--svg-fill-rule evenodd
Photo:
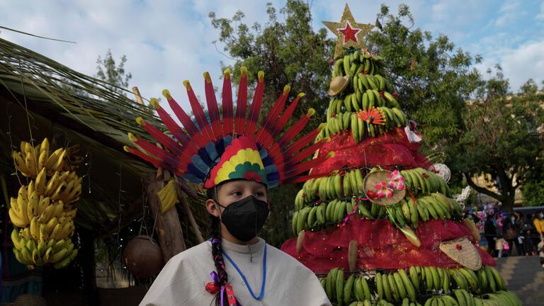
<instances>
[{"instance_id":1,"label":"leafy tree with visible trunk at the right edge, above the crowd","mask_svg":"<svg viewBox=\"0 0 544 306\"><path fill-rule=\"evenodd\" d=\"M496 198L502 208L514 207L516 189L528 182L524 190L528 199L541 197L543 169L544 95L529 80L519 94L509 93L509 81L502 69L477 90L463 114L465 128L450 156L456 170L480 193ZM475 175L491 174L497 178L497 191L477 186ZM535 188L534 190L531 190Z\"/></svg>"}]
</instances>

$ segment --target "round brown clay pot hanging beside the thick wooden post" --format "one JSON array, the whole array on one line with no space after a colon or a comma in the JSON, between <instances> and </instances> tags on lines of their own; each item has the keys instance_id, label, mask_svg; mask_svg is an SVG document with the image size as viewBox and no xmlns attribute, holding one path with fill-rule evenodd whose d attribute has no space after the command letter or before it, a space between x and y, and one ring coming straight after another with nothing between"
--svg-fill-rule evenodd
<instances>
[{"instance_id":1,"label":"round brown clay pot hanging beside the thick wooden post","mask_svg":"<svg viewBox=\"0 0 544 306\"><path fill-rule=\"evenodd\" d=\"M139 278L156 276L164 266L161 247L145 235L134 237L128 242L123 258L128 271Z\"/></svg>"}]
</instances>

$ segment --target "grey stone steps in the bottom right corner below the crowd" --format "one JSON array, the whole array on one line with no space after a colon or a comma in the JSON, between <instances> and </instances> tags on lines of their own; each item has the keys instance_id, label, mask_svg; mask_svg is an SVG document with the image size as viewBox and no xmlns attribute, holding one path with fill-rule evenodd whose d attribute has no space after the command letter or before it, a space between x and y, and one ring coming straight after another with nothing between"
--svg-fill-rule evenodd
<instances>
[{"instance_id":1,"label":"grey stone steps in the bottom right corner below the crowd","mask_svg":"<svg viewBox=\"0 0 544 306\"><path fill-rule=\"evenodd\" d=\"M514 256L497 259L497 269L526 306L544 306L544 269L538 256Z\"/></svg>"}]
</instances>

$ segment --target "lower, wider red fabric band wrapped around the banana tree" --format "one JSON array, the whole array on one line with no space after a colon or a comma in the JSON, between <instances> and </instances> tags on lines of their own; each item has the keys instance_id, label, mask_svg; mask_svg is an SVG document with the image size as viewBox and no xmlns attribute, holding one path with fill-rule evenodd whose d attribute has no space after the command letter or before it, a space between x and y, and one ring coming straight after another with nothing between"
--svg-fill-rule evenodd
<instances>
[{"instance_id":1,"label":"lower, wider red fabric band wrapped around the banana tree","mask_svg":"<svg viewBox=\"0 0 544 306\"><path fill-rule=\"evenodd\" d=\"M344 227L329 227L318 232L306 232L300 254L296 253L297 239L289 239L281 249L298 259L314 273L328 273L331 268L342 267L348 271L348 244L358 242L358 268L405 268L409 266L460 266L444 254L441 242L465 237L472 239L468 229L452 220L420 222L415 230L421 241L416 248L389 220L367 220L351 217ZM496 262L477 247L482 264L495 266Z\"/></svg>"}]
</instances>

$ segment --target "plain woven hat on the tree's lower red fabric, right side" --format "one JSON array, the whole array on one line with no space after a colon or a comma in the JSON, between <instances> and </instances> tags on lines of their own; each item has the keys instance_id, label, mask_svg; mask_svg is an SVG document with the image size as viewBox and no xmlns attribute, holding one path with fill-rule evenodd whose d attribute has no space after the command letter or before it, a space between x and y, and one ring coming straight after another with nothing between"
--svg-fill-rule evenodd
<instances>
[{"instance_id":1,"label":"plain woven hat on the tree's lower red fabric, right side","mask_svg":"<svg viewBox=\"0 0 544 306\"><path fill-rule=\"evenodd\" d=\"M453 239L448 242L442 242L440 249L450 259L462 266L477 271L482 268L482 257L476 249L476 246L470 242L467 237Z\"/></svg>"}]
</instances>

